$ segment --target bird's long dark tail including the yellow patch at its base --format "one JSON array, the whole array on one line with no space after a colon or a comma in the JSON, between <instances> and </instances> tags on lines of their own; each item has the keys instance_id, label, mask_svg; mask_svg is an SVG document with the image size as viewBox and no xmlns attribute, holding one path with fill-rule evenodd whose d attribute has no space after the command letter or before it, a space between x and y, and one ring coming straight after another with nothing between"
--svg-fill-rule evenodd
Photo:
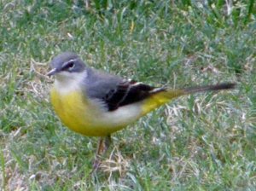
<instances>
[{"instance_id":1,"label":"bird's long dark tail including the yellow patch at its base","mask_svg":"<svg viewBox=\"0 0 256 191\"><path fill-rule=\"evenodd\" d=\"M234 89L236 84L234 83L224 83L224 84L215 84L215 85L206 85L206 86L195 86L185 89L158 89L153 90L152 95L148 99L143 101L143 114L146 114L154 108L160 107L166 102L171 101L173 98L183 95L195 94L199 92L206 91L218 91L218 90L230 90Z\"/></svg>"}]
</instances>

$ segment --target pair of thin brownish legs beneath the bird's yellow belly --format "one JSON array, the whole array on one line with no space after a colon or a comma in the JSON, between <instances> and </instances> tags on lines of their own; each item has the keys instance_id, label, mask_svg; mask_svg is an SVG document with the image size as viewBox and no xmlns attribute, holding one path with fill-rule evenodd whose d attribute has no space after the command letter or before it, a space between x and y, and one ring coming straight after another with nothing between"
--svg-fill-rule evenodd
<instances>
[{"instance_id":1,"label":"pair of thin brownish legs beneath the bird's yellow belly","mask_svg":"<svg viewBox=\"0 0 256 191\"><path fill-rule=\"evenodd\" d=\"M99 165L101 164L101 156L102 154L106 153L108 151L108 148L111 143L111 136L104 136L101 137L99 142L98 142L98 147L96 151L96 157L93 163L93 169L96 170Z\"/></svg>"}]
</instances>

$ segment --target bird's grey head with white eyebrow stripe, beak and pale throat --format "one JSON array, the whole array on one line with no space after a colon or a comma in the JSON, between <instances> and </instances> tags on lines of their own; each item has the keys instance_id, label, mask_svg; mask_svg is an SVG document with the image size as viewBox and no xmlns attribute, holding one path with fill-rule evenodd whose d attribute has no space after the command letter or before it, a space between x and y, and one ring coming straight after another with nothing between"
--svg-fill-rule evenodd
<instances>
[{"instance_id":1,"label":"bird's grey head with white eyebrow stripe, beak and pale throat","mask_svg":"<svg viewBox=\"0 0 256 191\"><path fill-rule=\"evenodd\" d=\"M48 76L55 75L57 80L66 81L67 79L77 78L79 74L85 72L85 64L73 52L64 52L57 55L50 62L51 70Z\"/></svg>"}]
</instances>

